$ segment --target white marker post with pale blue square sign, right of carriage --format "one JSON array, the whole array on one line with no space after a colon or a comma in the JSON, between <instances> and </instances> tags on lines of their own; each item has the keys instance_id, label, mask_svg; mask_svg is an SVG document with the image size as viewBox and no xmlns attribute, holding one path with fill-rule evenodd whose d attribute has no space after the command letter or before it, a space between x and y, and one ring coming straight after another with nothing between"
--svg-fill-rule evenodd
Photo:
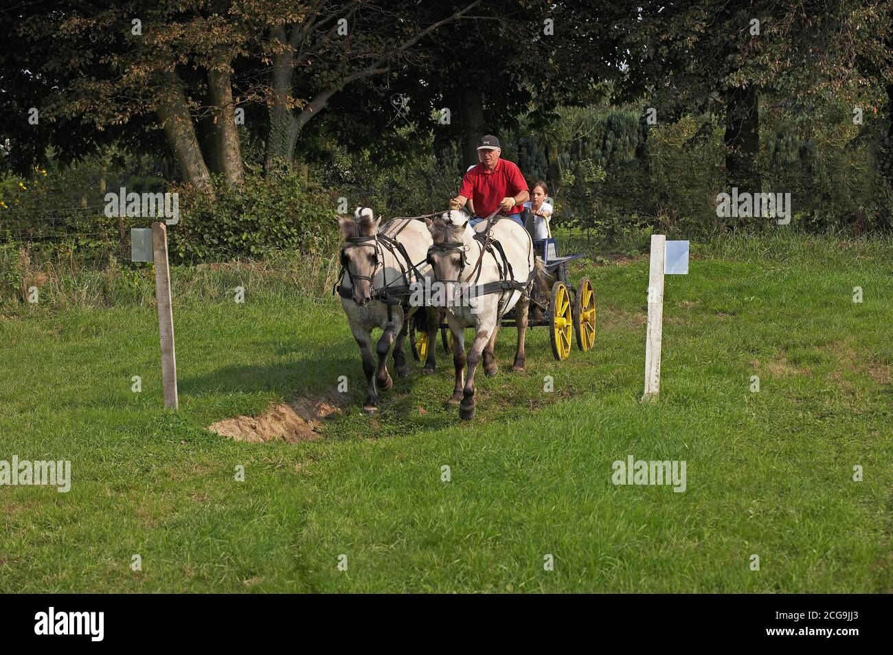
<instances>
[{"instance_id":1,"label":"white marker post with pale blue square sign, right of carriage","mask_svg":"<svg viewBox=\"0 0 893 655\"><path fill-rule=\"evenodd\" d=\"M661 390L661 341L663 339L663 275L688 275L689 242L667 241L651 235L651 267L648 272L648 326L645 336L645 394L654 400Z\"/></svg>"}]
</instances>

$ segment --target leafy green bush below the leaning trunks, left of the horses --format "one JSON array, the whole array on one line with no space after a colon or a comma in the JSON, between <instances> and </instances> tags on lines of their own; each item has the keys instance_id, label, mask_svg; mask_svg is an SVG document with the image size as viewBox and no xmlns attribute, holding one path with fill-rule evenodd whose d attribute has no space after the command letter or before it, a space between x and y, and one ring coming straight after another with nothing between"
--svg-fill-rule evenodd
<instances>
[{"instance_id":1,"label":"leafy green bush below the leaning trunks, left of the horses","mask_svg":"<svg viewBox=\"0 0 893 655\"><path fill-rule=\"evenodd\" d=\"M260 258L277 250L318 253L332 246L337 197L305 188L294 172L248 175L241 187L221 185L215 199L185 187L179 223L169 228L173 261Z\"/></svg>"}]
</instances>

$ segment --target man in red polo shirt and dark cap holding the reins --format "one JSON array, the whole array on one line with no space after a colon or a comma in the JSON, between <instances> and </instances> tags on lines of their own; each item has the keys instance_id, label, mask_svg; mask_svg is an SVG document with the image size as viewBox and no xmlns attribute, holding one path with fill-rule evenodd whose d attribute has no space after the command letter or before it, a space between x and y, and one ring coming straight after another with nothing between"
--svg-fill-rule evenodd
<instances>
[{"instance_id":1,"label":"man in red polo shirt and dark cap holding the reins","mask_svg":"<svg viewBox=\"0 0 893 655\"><path fill-rule=\"evenodd\" d=\"M478 142L480 163L465 171L459 195L449 202L450 209L461 209L469 199L472 200L475 214L472 228L497 209L524 227L522 205L530 200L527 182L513 162L499 158L500 153L502 148L497 137L491 134L481 137Z\"/></svg>"}]
</instances>

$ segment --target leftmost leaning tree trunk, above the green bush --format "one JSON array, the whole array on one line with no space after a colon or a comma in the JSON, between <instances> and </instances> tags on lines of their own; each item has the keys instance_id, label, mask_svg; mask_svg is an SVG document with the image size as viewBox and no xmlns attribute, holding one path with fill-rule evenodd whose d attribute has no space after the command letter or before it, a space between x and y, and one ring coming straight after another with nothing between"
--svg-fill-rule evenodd
<instances>
[{"instance_id":1,"label":"leftmost leaning tree trunk, above the green bush","mask_svg":"<svg viewBox=\"0 0 893 655\"><path fill-rule=\"evenodd\" d=\"M162 121L164 136L177 157L180 174L188 184L213 195L211 175L198 146L183 85L175 72L166 73L163 83L155 114Z\"/></svg>"}]
</instances>

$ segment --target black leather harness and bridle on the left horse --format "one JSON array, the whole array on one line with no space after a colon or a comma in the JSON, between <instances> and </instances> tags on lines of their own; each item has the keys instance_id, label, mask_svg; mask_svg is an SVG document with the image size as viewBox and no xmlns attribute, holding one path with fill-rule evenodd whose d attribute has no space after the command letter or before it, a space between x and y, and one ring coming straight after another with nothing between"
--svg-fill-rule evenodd
<instances>
[{"instance_id":1,"label":"black leather harness and bridle on the left horse","mask_svg":"<svg viewBox=\"0 0 893 655\"><path fill-rule=\"evenodd\" d=\"M395 220L405 220L405 223L397 228L393 236L388 236L387 231L388 229L390 229L391 224L394 223ZM406 301L406 297L410 293L410 283L412 282L412 280L410 279L410 272L413 272L414 279L421 279L424 277L422 276L421 271L418 269L418 264L413 263L412 259L410 259L409 253L406 252L405 246L396 239L396 236L398 236L400 232L402 232L412 220L413 219L389 220L387 225L385 225L384 228L381 228L380 231L374 235L346 237L345 240L347 243L341 248L340 253L341 272L338 274L338 282L336 282L335 285L332 286L332 294L337 293L342 298L350 300L353 294L354 280L369 280L369 286L371 286L371 299L373 301L381 301L388 306L388 320L391 320L392 307L394 305L404 304ZM366 246L375 249L375 266L372 269L371 276L356 275L348 265L349 262L347 261L347 258L345 256L346 250L347 248L353 248L357 246ZM388 278L385 274L384 269L383 253L385 250L387 250L388 253L393 256L394 261L396 261L397 263L397 266L400 267L400 275L392 279L390 282L388 282ZM375 274L378 272L379 269L382 269L381 272L385 284L380 288L375 288L374 286L372 286L372 279L375 278ZM340 281L344 279L345 274L350 280L350 286L344 286L340 284Z\"/></svg>"}]
</instances>

